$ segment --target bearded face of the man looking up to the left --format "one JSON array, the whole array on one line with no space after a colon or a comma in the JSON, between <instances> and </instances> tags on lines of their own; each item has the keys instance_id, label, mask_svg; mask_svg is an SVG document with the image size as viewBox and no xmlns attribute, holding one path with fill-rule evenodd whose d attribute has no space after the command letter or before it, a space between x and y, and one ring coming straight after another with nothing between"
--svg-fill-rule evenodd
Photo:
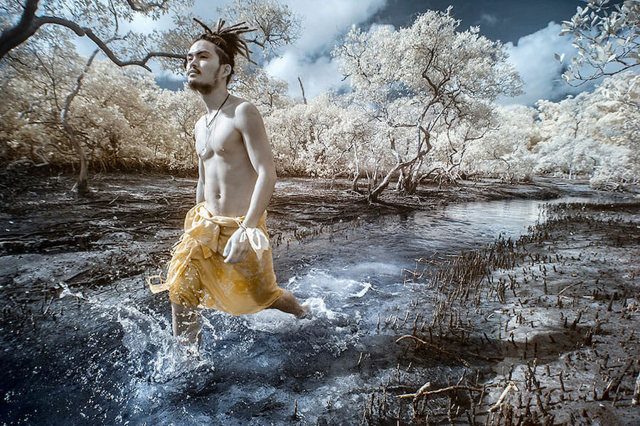
<instances>
[{"instance_id":1,"label":"bearded face of the man looking up to the left","mask_svg":"<svg viewBox=\"0 0 640 426\"><path fill-rule=\"evenodd\" d=\"M230 65L220 65L215 45L207 40L198 40L191 45L186 56L187 82L191 89L203 94L210 93L218 84L226 85Z\"/></svg>"}]
</instances>

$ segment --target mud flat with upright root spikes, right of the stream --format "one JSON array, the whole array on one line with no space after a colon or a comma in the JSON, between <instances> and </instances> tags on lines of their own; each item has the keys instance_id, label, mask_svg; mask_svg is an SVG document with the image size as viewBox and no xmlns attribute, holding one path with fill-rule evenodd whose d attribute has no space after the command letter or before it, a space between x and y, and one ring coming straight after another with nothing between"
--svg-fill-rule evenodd
<instances>
[{"instance_id":1,"label":"mud flat with upright root spikes, right of the stream","mask_svg":"<svg viewBox=\"0 0 640 426\"><path fill-rule=\"evenodd\" d=\"M410 392L383 384L363 410L369 424L640 424L640 202L548 214L518 241L407 271L425 300L385 325L405 333L397 343L412 362L464 372L411 377Z\"/></svg>"}]
</instances>

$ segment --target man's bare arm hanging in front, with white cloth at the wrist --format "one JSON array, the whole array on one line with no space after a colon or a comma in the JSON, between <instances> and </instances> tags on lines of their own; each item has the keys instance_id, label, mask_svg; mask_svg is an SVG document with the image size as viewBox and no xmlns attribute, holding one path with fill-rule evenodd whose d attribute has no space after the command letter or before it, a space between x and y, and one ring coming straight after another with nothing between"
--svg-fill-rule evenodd
<instances>
[{"instance_id":1,"label":"man's bare arm hanging in front, with white cloth at the wrist","mask_svg":"<svg viewBox=\"0 0 640 426\"><path fill-rule=\"evenodd\" d=\"M262 213L267 209L275 187L277 176L273 153L260 111L253 104L243 102L238 106L235 111L235 126L242 134L242 139L247 148L247 155L249 155L251 165L257 173L249 210L245 215L245 220L242 222L247 228L255 228L260 221L260 217L262 217ZM231 239L229 242L231 242ZM229 253L225 258L225 262L236 263L245 258L249 248L248 243L245 241L245 246L242 248L235 249L230 245L228 249ZM225 250L226 252L227 250Z\"/></svg>"}]
</instances>

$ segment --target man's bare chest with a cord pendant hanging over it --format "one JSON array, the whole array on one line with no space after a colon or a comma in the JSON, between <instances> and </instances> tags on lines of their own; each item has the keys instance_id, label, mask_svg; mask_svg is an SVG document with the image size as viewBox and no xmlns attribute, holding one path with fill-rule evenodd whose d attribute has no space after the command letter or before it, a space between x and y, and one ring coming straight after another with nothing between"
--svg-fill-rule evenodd
<instances>
[{"instance_id":1,"label":"man's bare chest with a cord pendant hanging over it","mask_svg":"<svg viewBox=\"0 0 640 426\"><path fill-rule=\"evenodd\" d=\"M242 150L242 135L235 129L233 119L218 117L210 124L201 121L196 131L196 152L203 160L220 155L228 157Z\"/></svg>"}]
</instances>

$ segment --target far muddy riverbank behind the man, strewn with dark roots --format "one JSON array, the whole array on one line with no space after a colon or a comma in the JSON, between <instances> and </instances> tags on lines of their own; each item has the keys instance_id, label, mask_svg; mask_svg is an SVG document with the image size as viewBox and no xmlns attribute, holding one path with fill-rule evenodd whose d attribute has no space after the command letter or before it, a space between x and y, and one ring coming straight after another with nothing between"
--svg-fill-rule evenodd
<instances>
[{"instance_id":1,"label":"far muddy riverbank behind the man, strewn with dark roots","mask_svg":"<svg viewBox=\"0 0 640 426\"><path fill-rule=\"evenodd\" d=\"M167 175L92 177L90 197L73 192L75 175L21 176L3 183L0 199L0 285L11 303L42 303L58 283L106 285L165 267L193 207L196 180ZM425 187L414 197L388 192L385 204L368 204L348 180L279 180L268 208L275 247L343 231L360 220L447 204L513 198L550 199L562 190L553 180L511 185L493 180ZM114 268L117 266L117 268ZM38 291L23 293L30 283ZM42 286L42 288L41 288ZM12 290L14 289L14 290ZM15 293L14 293L15 291Z\"/></svg>"}]
</instances>

